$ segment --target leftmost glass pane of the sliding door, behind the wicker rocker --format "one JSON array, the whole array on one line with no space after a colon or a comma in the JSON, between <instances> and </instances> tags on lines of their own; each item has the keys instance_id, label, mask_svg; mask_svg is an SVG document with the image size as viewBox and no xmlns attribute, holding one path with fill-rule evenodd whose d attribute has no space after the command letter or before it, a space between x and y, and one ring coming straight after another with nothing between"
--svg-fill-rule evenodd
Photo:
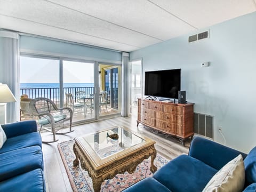
<instances>
[{"instance_id":1,"label":"leftmost glass pane of the sliding door, behind the wicker rocker","mask_svg":"<svg viewBox=\"0 0 256 192\"><path fill-rule=\"evenodd\" d=\"M45 97L60 106L59 63L56 58L20 57L20 95Z\"/></svg>"}]
</instances>

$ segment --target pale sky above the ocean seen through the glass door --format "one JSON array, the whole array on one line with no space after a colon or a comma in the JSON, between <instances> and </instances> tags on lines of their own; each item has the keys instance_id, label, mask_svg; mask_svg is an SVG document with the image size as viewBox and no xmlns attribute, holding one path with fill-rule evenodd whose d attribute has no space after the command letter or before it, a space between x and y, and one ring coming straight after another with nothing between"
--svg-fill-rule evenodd
<instances>
[{"instance_id":1,"label":"pale sky above the ocean seen through the glass door","mask_svg":"<svg viewBox=\"0 0 256 192\"><path fill-rule=\"evenodd\" d=\"M93 63L63 61L63 83L93 83ZM59 60L20 57L20 83L59 83Z\"/></svg>"}]
</instances>

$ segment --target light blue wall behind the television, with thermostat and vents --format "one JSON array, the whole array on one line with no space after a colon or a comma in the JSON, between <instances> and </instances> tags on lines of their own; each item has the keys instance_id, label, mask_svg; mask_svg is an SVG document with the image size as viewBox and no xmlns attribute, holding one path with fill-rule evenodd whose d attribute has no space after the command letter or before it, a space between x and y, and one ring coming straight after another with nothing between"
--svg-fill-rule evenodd
<instances>
[{"instance_id":1,"label":"light blue wall behind the television, with thermostat and vents","mask_svg":"<svg viewBox=\"0 0 256 192\"><path fill-rule=\"evenodd\" d=\"M209 39L173 38L134 51L130 59L143 59L143 74L181 68L187 101L195 112L214 116L214 140L223 143L222 126L226 145L248 152L256 146L256 12L207 29ZM201 68L204 61L210 67Z\"/></svg>"}]
</instances>

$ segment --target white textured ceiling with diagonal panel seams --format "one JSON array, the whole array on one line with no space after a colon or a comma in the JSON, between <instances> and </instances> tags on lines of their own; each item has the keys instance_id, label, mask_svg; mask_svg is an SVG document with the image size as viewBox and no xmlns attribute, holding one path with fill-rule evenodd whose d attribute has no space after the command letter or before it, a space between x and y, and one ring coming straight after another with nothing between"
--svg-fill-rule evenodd
<instances>
[{"instance_id":1,"label":"white textured ceiling with diagonal panel seams","mask_svg":"<svg viewBox=\"0 0 256 192\"><path fill-rule=\"evenodd\" d=\"M256 0L0 0L0 28L131 52L256 11Z\"/></svg>"}]
</instances>

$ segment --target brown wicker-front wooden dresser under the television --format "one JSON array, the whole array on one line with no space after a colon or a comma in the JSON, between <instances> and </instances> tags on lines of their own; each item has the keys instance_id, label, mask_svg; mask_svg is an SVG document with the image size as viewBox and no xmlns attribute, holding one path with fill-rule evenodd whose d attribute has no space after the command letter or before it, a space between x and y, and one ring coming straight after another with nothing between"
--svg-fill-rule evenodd
<instances>
[{"instance_id":1,"label":"brown wicker-front wooden dresser under the television","mask_svg":"<svg viewBox=\"0 0 256 192\"><path fill-rule=\"evenodd\" d=\"M182 141L194 135L194 103L178 104L138 99L139 123L175 135Z\"/></svg>"}]
</instances>

